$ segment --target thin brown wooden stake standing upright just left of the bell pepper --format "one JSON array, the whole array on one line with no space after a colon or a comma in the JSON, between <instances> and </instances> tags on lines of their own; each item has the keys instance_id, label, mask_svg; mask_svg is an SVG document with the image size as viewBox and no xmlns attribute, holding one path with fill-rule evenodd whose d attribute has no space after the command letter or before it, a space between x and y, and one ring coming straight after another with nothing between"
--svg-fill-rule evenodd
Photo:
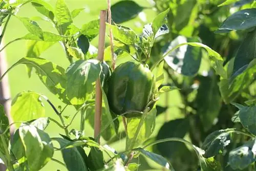
<instances>
[{"instance_id":1,"label":"thin brown wooden stake standing upright just left of the bell pepper","mask_svg":"<svg viewBox=\"0 0 256 171\"><path fill-rule=\"evenodd\" d=\"M98 45L98 60L104 59L105 46L105 31L106 31L106 10L100 11L100 25L99 25L99 45ZM94 116L94 138L96 139L100 133L102 110L102 92L99 78L96 81L96 98L95 98L95 116ZM100 143L100 138L98 139Z\"/></svg>"}]
</instances>

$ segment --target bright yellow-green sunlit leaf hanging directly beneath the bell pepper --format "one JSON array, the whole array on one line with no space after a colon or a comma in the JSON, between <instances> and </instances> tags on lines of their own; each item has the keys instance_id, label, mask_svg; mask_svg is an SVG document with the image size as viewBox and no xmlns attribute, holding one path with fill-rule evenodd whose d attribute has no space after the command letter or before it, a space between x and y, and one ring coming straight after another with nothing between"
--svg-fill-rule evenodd
<instances>
[{"instance_id":1,"label":"bright yellow-green sunlit leaf hanging directly beneath the bell pepper","mask_svg":"<svg viewBox=\"0 0 256 171\"><path fill-rule=\"evenodd\" d=\"M141 145L153 133L156 125L156 106L141 117L127 119L126 149Z\"/></svg>"}]
</instances>

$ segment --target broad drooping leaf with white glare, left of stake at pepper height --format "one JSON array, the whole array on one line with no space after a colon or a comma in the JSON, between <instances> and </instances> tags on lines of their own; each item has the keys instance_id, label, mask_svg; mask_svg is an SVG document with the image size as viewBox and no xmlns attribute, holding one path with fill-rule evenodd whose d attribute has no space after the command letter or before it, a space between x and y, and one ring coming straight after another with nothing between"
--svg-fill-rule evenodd
<instances>
[{"instance_id":1,"label":"broad drooping leaf with white glare, left of stake at pepper height","mask_svg":"<svg viewBox=\"0 0 256 171\"><path fill-rule=\"evenodd\" d=\"M101 72L100 62L96 59L78 60L66 71L67 95L71 104L83 104L94 91L94 83Z\"/></svg>"}]
</instances>

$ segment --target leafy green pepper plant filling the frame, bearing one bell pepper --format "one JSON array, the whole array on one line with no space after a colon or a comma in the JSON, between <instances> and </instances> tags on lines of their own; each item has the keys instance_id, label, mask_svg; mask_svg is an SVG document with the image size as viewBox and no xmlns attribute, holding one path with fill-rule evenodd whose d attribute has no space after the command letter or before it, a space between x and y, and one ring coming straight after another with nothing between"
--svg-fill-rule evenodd
<instances>
[{"instance_id":1,"label":"leafy green pepper plant filling the frame, bearing one bell pepper","mask_svg":"<svg viewBox=\"0 0 256 171\"><path fill-rule=\"evenodd\" d=\"M28 43L27 55L8 71L24 64L29 77L34 71L66 105L58 109L45 95L29 90L17 94L12 100L17 127L12 138L1 106L0 158L8 170L40 170L50 160L68 170L142 170L146 163L139 161L141 156L164 170L254 169L256 11L255 2L237 2L236 12L230 14L230 1L220 6L215 1L155 1L158 14L140 34L121 24L144 8L133 1L114 4L113 22L107 25L114 35L115 68L111 46L105 48L101 62L90 43L99 33L99 20L81 28L74 25L73 19L83 9L70 11L63 0L57 0L55 8L39 0L1 1L4 30L10 17L16 17L29 32L6 44ZM57 33L43 31L35 18L18 16L25 4L44 15L41 19L51 23ZM219 16L226 19L220 22ZM203 35L205 30L215 33ZM70 62L66 69L40 57L57 42ZM91 137L84 125L94 126L98 78L103 99L101 131L98 137ZM182 117L167 120L154 135L156 120L170 111L158 101L175 91L184 104L178 106ZM45 116L45 103L59 121ZM75 111L70 117L65 115L68 105ZM79 130L71 127L76 119ZM45 131L49 124L59 126L65 134L50 137ZM108 144L119 140L122 129L125 151L117 152ZM100 137L107 143L99 143ZM56 151L63 161L53 158ZM186 161L182 161L184 156Z\"/></svg>"}]
</instances>

